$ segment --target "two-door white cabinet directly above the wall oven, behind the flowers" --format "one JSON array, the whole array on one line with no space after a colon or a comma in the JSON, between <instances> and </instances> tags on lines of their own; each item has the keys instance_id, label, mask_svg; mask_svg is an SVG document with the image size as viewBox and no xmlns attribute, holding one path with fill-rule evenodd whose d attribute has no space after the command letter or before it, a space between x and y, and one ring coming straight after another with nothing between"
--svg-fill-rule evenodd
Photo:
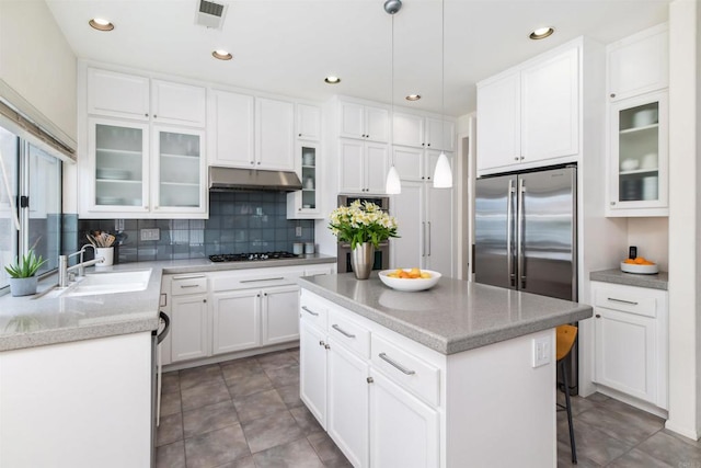
<instances>
[{"instance_id":1,"label":"two-door white cabinet directly above the wall oven, behind the flowers","mask_svg":"<svg viewBox=\"0 0 701 468\"><path fill-rule=\"evenodd\" d=\"M342 138L338 141L340 192L384 193L388 146Z\"/></svg>"}]
</instances>

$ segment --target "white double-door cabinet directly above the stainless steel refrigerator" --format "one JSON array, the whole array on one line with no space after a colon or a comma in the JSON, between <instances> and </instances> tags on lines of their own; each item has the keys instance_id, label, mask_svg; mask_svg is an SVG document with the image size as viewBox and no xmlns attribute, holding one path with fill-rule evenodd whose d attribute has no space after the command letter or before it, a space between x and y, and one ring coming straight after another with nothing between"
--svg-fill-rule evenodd
<instances>
[{"instance_id":1,"label":"white double-door cabinet directly above the stainless steel refrigerator","mask_svg":"<svg viewBox=\"0 0 701 468\"><path fill-rule=\"evenodd\" d=\"M478 83L478 171L576 158L579 54L566 45Z\"/></svg>"}]
</instances>

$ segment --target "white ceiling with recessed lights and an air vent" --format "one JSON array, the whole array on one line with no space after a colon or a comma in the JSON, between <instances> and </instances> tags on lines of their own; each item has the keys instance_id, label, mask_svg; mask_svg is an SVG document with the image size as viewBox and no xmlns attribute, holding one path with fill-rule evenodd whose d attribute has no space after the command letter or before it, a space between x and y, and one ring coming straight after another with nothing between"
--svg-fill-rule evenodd
<instances>
[{"instance_id":1,"label":"white ceiling with recessed lights and an air vent","mask_svg":"<svg viewBox=\"0 0 701 468\"><path fill-rule=\"evenodd\" d=\"M383 0L217 0L221 31L195 24L198 0L46 0L79 58L237 88L324 101L333 94L390 103L392 16ZM441 110L445 31L446 114L475 109L474 83L568 39L609 44L667 21L669 0L404 0L394 15L394 103ZM110 33L88 25L94 16ZM552 25L554 35L530 41ZM231 52L233 60L211 57ZM329 85L327 75L342 77ZM404 101L410 93L423 99Z\"/></svg>"}]
</instances>

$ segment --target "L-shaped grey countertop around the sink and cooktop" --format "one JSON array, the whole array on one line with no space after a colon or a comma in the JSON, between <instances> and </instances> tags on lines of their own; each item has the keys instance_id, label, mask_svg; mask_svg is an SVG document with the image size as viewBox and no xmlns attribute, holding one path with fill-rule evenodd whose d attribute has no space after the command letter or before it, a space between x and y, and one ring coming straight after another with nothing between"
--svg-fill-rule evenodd
<instances>
[{"instance_id":1,"label":"L-shaped grey countertop around the sink and cooktop","mask_svg":"<svg viewBox=\"0 0 701 468\"><path fill-rule=\"evenodd\" d=\"M163 274L335 263L322 254L264 262L212 263L208 259L134 262L88 267L87 273L151 270L145 290L74 297L43 297L57 283L57 275L39 282L37 295L0 297L0 351L68 343L127 333L148 332L159 327L159 298Z\"/></svg>"}]
</instances>

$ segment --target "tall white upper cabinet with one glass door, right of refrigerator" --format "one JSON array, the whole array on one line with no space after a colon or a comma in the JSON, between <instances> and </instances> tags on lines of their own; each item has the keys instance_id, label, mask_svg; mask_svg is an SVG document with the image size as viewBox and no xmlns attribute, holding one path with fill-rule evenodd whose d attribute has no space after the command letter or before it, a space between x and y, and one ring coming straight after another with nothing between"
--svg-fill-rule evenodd
<instances>
[{"instance_id":1,"label":"tall white upper cabinet with one glass door, right of refrigerator","mask_svg":"<svg viewBox=\"0 0 701 468\"><path fill-rule=\"evenodd\" d=\"M609 45L607 216L668 216L667 25Z\"/></svg>"}]
</instances>

